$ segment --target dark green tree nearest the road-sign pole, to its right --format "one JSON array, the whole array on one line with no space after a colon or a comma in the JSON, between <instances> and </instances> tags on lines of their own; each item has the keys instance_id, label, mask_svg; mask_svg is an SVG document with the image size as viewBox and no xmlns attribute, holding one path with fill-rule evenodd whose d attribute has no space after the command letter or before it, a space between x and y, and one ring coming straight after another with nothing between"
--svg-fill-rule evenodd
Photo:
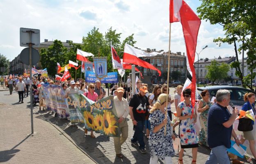
<instances>
[{"instance_id":1,"label":"dark green tree nearest the road-sign pole, to its right","mask_svg":"<svg viewBox=\"0 0 256 164\"><path fill-rule=\"evenodd\" d=\"M58 40L53 41L53 45L49 46L47 49L41 49L40 62L43 68L47 68L48 75L53 77L57 73L57 62L61 66L66 65L67 51L68 49Z\"/></svg>"}]
</instances>

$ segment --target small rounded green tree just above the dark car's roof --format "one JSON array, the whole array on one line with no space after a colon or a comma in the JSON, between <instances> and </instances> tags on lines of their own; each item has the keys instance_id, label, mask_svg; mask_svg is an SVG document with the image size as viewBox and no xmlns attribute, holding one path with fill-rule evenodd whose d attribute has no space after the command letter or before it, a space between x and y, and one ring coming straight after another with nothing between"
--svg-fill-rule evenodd
<instances>
[{"instance_id":1,"label":"small rounded green tree just above the dark car's roof","mask_svg":"<svg viewBox=\"0 0 256 164\"><path fill-rule=\"evenodd\" d=\"M219 66L219 63L216 60L213 60L209 66L206 66L206 78L211 80L212 84L214 84L216 80L222 80L228 76L229 68L228 64L222 63Z\"/></svg>"}]
</instances>

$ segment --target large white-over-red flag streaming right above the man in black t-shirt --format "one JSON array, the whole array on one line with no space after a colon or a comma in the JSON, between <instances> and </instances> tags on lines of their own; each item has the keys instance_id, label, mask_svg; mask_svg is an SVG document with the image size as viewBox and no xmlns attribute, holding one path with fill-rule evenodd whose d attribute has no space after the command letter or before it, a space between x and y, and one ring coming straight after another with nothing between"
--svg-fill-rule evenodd
<instances>
[{"instance_id":1,"label":"large white-over-red flag streaming right above the man in black t-shirt","mask_svg":"<svg viewBox=\"0 0 256 164\"><path fill-rule=\"evenodd\" d=\"M155 68L148 62L146 62L142 59L139 59L139 57L151 57L151 56L155 56L155 55L158 55L161 53L158 53L158 52L146 53L146 52L136 49L133 46L130 46L126 43L125 47L124 47L124 52L123 52L123 62L130 63L130 64L136 64L136 65L142 66L144 68L149 68L149 69L158 71L159 76L161 76L160 70L158 70L157 68Z\"/></svg>"}]
</instances>

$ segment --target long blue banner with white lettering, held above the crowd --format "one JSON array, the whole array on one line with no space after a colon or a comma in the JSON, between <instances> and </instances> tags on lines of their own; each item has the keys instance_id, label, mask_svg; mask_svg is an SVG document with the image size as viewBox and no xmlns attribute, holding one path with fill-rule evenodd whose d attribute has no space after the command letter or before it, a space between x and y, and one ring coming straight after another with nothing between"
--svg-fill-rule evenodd
<instances>
[{"instance_id":1,"label":"long blue banner with white lettering, held above the crowd","mask_svg":"<svg viewBox=\"0 0 256 164\"><path fill-rule=\"evenodd\" d=\"M96 82L99 80L93 71L86 71L85 82ZM101 83L118 83L117 72L109 72L107 76L101 79Z\"/></svg>"}]
</instances>

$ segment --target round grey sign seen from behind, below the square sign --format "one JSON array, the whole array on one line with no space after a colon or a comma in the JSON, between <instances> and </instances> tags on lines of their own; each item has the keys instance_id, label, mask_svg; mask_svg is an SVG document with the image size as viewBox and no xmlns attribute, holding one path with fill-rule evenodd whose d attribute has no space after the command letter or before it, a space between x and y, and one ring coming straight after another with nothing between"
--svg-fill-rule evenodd
<instances>
[{"instance_id":1,"label":"round grey sign seen from behind, below the square sign","mask_svg":"<svg viewBox=\"0 0 256 164\"><path fill-rule=\"evenodd\" d=\"M29 55L29 47L24 48L21 51L21 62L23 62L24 64L30 65L30 55ZM32 48L32 65L37 64L39 62L40 59L40 55L39 52Z\"/></svg>"}]
</instances>

